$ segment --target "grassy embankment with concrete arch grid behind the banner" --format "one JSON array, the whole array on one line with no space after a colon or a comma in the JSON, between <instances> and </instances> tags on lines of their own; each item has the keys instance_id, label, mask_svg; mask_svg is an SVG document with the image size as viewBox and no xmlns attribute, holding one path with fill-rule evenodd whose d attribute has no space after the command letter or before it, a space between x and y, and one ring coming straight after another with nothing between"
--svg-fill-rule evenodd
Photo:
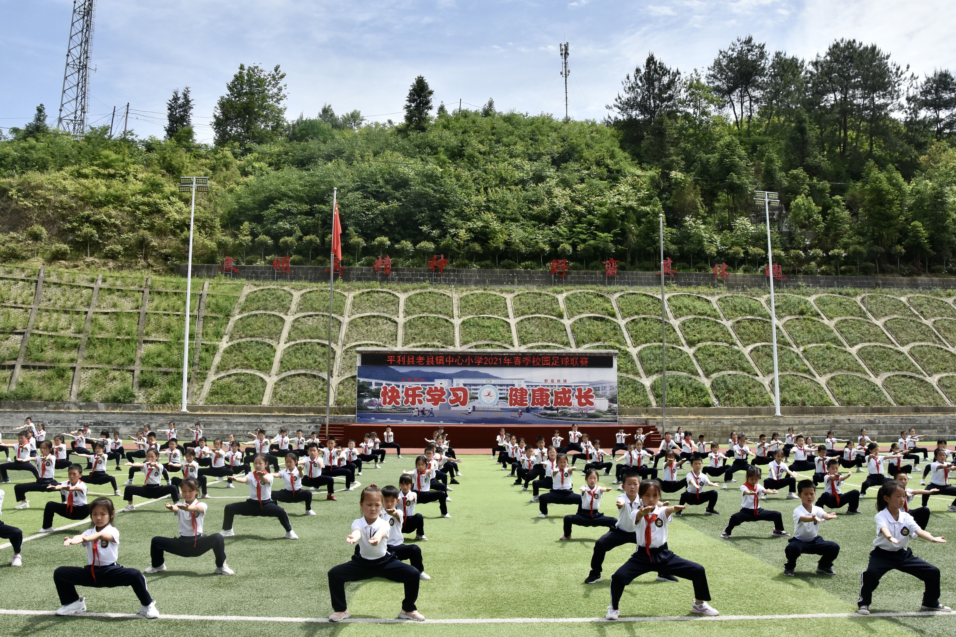
<instances>
[{"instance_id":1,"label":"grassy embankment with concrete arch grid behind the banner","mask_svg":"<svg viewBox=\"0 0 956 637\"><path fill-rule=\"evenodd\" d=\"M36 271L0 270L2 385L21 352ZM45 273L21 371L5 399L179 400L185 280ZM324 405L329 296L307 284L195 281L190 402ZM667 292L667 398L674 407L771 404L770 299ZM205 291L204 291L205 290ZM93 304L96 294L96 303ZM145 302L145 303L144 303ZM776 297L784 405L956 403L951 294L785 290ZM193 322L196 336L196 323ZM355 404L355 349L617 348L619 404L661 393L661 301L653 290L344 284L333 312L333 403ZM76 366L80 372L76 374Z\"/></svg>"}]
</instances>

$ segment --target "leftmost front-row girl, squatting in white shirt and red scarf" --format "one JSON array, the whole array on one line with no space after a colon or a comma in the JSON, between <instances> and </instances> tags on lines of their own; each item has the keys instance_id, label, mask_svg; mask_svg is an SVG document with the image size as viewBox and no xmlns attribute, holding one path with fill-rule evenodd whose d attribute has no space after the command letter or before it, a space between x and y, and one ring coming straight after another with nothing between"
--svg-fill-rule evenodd
<instances>
[{"instance_id":1,"label":"leftmost front-row girl, squatting in white shirt and red scarf","mask_svg":"<svg viewBox=\"0 0 956 637\"><path fill-rule=\"evenodd\" d=\"M113 500L98 498L90 505L93 526L72 538L63 539L64 546L83 544L88 566L60 566L54 570L54 585L60 604L57 615L76 615L86 611L85 599L76 593L76 586L115 588L132 586L140 598L140 615L156 619L160 611L146 590L146 578L135 568L124 568L117 563L120 553L120 531L113 526L116 510Z\"/></svg>"}]
</instances>

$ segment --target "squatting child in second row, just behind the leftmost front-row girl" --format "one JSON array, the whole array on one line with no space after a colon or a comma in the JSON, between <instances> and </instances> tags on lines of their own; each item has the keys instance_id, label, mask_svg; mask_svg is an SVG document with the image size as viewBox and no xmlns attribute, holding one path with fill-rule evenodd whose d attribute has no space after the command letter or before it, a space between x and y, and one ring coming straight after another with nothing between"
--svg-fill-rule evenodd
<instances>
[{"instance_id":1,"label":"squatting child in second row, just behind the leftmost front-row girl","mask_svg":"<svg viewBox=\"0 0 956 637\"><path fill-rule=\"evenodd\" d=\"M196 425L199 427L199 425ZM152 563L146 573L160 573L166 570L164 554L172 553L184 558L196 558L212 551L216 556L216 569L213 575L235 575L226 563L226 541L218 533L203 535L203 520L206 519L206 502L200 502L199 483L195 478L183 480L183 502L166 504L179 521L180 537L155 537L150 543L149 555Z\"/></svg>"}]
</instances>

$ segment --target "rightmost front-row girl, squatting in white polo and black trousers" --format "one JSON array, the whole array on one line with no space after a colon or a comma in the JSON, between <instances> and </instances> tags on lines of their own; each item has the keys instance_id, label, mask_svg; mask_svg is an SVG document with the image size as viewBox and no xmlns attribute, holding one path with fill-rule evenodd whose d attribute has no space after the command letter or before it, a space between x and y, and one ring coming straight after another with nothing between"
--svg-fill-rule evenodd
<instances>
[{"instance_id":1,"label":"rightmost front-row girl, squatting in white polo and black trousers","mask_svg":"<svg viewBox=\"0 0 956 637\"><path fill-rule=\"evenodd\" d=\"M877 539L870 551L870 563L860 573L859 600L857 612L870 614L873 591L880 585L880 579L891 570L898 570L923 580L923 605L921 610L949 612L949 606L940 604L940 569L915 555L909 548L909 541L917 535L923 540L945 544L945 538L934 537L920 528L913 516L903 509L906 502L906 490L896 480L888 480L880 486L877 494Z\"/></svg>"}]
</instances>

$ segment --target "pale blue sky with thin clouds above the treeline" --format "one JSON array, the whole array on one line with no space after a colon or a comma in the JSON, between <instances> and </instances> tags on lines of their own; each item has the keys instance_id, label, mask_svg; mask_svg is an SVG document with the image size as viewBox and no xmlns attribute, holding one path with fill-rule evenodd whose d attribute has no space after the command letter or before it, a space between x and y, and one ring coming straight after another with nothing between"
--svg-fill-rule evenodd
<instances>
[{"instance_id":1,"label":"pale blue sky with thin clouds above the treeline","mask_svg":"<svg viewBox=\"0 0 956 637\"><path fill-rule=\"evenodd\" d=\"M72 0L0 0L0 126L22 125L43 102L55 118ZM98 0L91 120L126 102L137 134L162 135L165 100L190 86L197 133L241 62L288 74L288 116L323 102L375 120L402 117L418 74L436 104L563 115L558 42L571 44L569 111L600 118L624 74L649 51L683 72L752 33L770 51L807 57L838 37L876 42L918 74L956 70L956 3L940 0L404 0L292 2Z\"/></svg>"}]
</instances>

